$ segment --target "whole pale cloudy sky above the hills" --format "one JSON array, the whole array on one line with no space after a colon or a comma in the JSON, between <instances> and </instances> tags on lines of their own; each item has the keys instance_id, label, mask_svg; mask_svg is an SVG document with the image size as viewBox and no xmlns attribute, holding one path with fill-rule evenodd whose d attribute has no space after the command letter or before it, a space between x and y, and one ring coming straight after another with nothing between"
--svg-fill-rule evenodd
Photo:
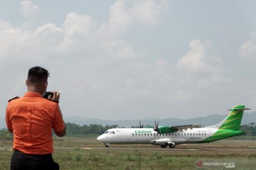
<instances>
[{"instance_id":1,"label":"whole pale cloudy sky above the hills","mask_svg":"<svg viewBox=\"0 0 256 170\"><path fill-rule=\"evenodd\" d=\"M256 109L256 1L0 1L0 116L48 69L64 116L193 118Z\"/></svg>"}]
</instances>

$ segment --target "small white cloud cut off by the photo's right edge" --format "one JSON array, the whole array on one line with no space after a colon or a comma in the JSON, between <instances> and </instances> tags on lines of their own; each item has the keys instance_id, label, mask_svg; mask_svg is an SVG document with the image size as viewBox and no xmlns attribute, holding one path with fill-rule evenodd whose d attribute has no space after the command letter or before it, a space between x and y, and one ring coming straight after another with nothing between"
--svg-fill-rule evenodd
<instances>
[{"instance_id":1,"label":"small white cloud cut off by the photo's right edge","mask_svg":"<svg viewBox=\"0 0 256 170\"><path fill-rule=\"evenodd\" d=\"M249 40L241 45L239 53L247 59L256 57L256 32L252 32Z\"/></svg>"}]
</instances>

